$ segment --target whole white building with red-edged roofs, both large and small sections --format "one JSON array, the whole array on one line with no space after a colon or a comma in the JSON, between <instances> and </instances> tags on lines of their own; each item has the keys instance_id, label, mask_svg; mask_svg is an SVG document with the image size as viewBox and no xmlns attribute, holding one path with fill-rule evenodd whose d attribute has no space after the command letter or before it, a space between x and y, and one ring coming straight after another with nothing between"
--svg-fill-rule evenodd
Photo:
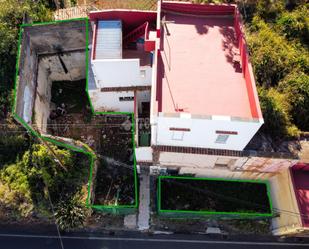
<instances>
[{"instance_id":1,"label":"whole white building with red-edged roofs, both large and small sections","mask_svg":"<svg viewBox=\"0 0 309 249\"><path fill-rule=\"evenodd\" d=\"M138 161L154 146L241 151L263 124L235 6L188 6L90 13L93 107L135 113Z\"/></svg>"}]
</instances>

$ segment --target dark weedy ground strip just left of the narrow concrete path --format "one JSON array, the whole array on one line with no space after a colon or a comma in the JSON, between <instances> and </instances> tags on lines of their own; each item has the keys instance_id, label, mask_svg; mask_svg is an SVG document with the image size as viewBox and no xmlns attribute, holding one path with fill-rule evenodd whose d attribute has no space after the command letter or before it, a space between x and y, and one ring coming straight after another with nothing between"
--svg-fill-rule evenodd
<instances>
[{"instance_id":1,"label":"dark weedy ground strip just left of the narrow concrete path","mask_svg":"<svg viewBox=\"0 0 309 249\"><path fill-rule=\"evenodd\" d=\"M106 115L101 128L99 160L94 170L94 205L134 206L136 172L134 165L132 117Z\"/></svg>"}]
</instances>

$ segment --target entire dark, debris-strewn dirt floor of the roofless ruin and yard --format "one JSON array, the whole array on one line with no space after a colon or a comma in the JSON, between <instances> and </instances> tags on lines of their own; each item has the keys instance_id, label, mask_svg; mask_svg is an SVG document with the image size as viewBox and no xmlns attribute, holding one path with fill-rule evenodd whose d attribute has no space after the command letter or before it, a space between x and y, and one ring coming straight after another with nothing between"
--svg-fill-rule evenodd
<instances>
[{"instance_id":1,"label":"entire dark, debris-strewn dirt floor of the roofless ruin and yard","mask_svg":"<svg viewBox=\"0 0 309 249\"><path fill-rule=\"evenodd\" d=\"M94 204L135 202L131 115L92 115L85 82L55 82L48 132L88 144L97 154L93 170Z\"/></svg>"}]
</instances>

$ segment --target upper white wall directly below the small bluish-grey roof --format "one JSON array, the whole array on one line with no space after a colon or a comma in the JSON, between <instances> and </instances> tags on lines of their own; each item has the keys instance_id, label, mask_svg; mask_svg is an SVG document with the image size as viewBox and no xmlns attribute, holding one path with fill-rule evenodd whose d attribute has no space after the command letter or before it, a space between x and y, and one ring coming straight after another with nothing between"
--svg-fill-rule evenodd
<instances>
[{"instance_id":1,"label":"upper white wall directly below the small bluish-grey roof","mask_svg":"<svg viewBox=\"0 0 309 249\"><path fill-rule=\"evenodd\" d=\"M140 68L139 59L93 60L91 65L98 88L151 85L151 68ZM141 70L146 71L145 77Z\"/></svg>"}]
</instances>

